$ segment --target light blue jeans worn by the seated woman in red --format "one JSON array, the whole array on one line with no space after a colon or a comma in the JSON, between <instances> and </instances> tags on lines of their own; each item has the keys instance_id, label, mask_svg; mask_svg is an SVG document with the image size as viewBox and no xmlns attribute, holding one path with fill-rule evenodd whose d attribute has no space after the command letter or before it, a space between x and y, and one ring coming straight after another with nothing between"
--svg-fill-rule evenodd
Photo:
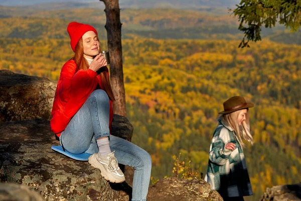
<instances>
[{"instance_id":1,"label":"light blue jeans worn by the seated woman in red","mask_svg":"<svg viewBox=\"0 0 301 201\"><path fill-rule=\"evenodd\" d=\"M104 90L93 91L60 136L64 148L74 154L98 152L96 139L108 136L118 163L134 170L132 201L146 200L152 158L140 147L110 135L109 98Z\"/></svg>"}]
</instances>

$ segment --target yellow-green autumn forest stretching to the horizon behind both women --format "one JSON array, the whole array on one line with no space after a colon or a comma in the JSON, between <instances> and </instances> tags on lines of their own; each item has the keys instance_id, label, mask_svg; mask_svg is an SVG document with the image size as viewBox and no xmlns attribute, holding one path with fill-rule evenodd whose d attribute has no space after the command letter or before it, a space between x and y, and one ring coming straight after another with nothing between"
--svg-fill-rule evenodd
<instances>
[{"instance_id":1,"label":"yellow-green autumn forest stretching to the horizon behind both women","mask_svg":"<svg viewBox=\"0 0 301 201\"><path fill-rule=\"evenodd\" d=\"M258 200L266 187L299 182L300 31L264 29L262 41L240 49L243 35L229 14L179 11L121 11L127 118L132 142L152 155L152 181L173 176L173 156L180 153L202 177L222 103L242 95L255 104L255 143L244 148L254 195L246 200ZM0 13L0 69L57 80L73 56L70 21L96 27L106 49L102 11L0 7Z\"/></svg>"}]
</instances>

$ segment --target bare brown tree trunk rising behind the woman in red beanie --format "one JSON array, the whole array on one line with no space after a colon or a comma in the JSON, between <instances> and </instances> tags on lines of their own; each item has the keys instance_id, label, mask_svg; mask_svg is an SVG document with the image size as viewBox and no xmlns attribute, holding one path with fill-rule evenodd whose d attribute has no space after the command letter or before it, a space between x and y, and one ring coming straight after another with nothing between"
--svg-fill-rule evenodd
<instances>
[{"instance_id":1,"label":"bare brown tree trunk rising behind the woman in red beanie","mask_svg":"<svg viewBox=\"0 0 301 201\"><path fill-rule=\"evenodd\" d=\"M114 114L126 117L125 92L122 70L121 23L118 0L99 0L105 5L108 48L110 53L110 78L115 97Z\"/></svg>"}]
</instances>

